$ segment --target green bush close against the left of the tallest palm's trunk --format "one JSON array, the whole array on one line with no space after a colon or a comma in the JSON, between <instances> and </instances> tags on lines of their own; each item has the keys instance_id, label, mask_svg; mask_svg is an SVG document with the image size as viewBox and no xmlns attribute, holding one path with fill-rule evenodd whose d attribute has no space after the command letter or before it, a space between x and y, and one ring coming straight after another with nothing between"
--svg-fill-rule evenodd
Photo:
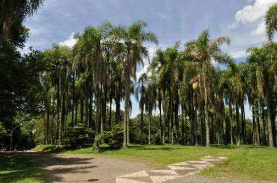
<instances>
[{"instance_id":1,"label":"green bush close against the left of the tallest palm's trunk","mask_svg":"<svg viewBox=\"0 0 277 183\"><path fill-rule=\"evenodd\" d=\"M119 125L112 127L110 131L106 131L96 137L96 140L104 140L112 149L119 149L123 145L123 128Z\"/></svg>"}]
</instances>

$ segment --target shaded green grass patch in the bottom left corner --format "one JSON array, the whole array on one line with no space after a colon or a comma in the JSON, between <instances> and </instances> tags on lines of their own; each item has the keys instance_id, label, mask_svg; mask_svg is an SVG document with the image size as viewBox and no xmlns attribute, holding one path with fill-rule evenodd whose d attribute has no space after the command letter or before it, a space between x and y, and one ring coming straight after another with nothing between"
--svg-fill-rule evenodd
<instances>
[{"instance_id":1,"label":"shaded green grass patch in the bottom left corner","mask_svg":"<svg viewBox=\"0 0 277 183\"><path fill-rule=\"evenodd\" d=\"M28 157L0 152L0 182L42 182L42 167Z\"/></svg>"}]
</instances>

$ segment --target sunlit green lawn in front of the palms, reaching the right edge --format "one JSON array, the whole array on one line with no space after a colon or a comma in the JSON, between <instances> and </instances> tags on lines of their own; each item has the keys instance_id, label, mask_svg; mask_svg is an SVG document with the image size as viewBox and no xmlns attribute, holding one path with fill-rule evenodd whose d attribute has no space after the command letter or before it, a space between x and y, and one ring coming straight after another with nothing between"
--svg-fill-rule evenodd
<instances>
[{"instance_id":1,"label":"sunlit green lawn in front of the palms, reaching the right edge","mask_svg":"<svg viewBox=\"0 0 277 183\"><path fill-rule=\"evenodd\" d=\"M61 151L66 154L91 154L140 160L153 167L194 160L206 155L224 155L228 158L227 160L200 172L200 174L250 180L277 180L277 148L254 145L243 145L240 148L235 145L214 145L210 148L181 145L129 145L126 150L108 150L107 145L100 147L102 150L99 152L92 151L92 146ZM49 145L39 148L46 151L53 149Z\"/></svg>"}]
</instances>

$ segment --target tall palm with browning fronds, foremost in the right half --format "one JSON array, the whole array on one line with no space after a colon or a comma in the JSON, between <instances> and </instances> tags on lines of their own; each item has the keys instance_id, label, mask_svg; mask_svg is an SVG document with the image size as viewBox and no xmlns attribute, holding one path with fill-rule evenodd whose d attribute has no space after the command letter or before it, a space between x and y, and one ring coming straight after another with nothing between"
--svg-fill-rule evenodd
<instances>
[{"instance_id":1,"label":"tall palm with browning fronds, foremost in the right half","mask_svg":"<svg viewBox=\"0 0 277 183\"><path fill-rule=\"evenodd\" d=\"M192 41L188 45L191 56L193 56L194 61L199 64L200 68L200 78L199 85L203 90L204 94L204 110L205 110L205 128L206 128L206 146L210 146L210 124L209 124L209 110L211 102L209 101L211 97L211 83L212 75L211 69L212 59L218 63L222 64L232 64L233 58L227 54L223 53L220 46L224 43L230 45L230 39L226 36L219 36L214 39L210 39L209 29L205 29L200 33L197 40Z\"/></svg>"}]
</instances>

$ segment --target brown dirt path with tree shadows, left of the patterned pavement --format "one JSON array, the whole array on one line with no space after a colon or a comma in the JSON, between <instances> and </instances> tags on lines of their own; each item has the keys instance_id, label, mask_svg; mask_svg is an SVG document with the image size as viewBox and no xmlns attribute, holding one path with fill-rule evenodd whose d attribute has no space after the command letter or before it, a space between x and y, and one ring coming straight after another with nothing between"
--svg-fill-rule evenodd
<instances>
[{"instance_id":1,"label":"brown dirt path with tree shadows, left of the patterned pavement","mask_svg":"<svg viewBox=\"0 0 277 183\"><path fill-rule=\"evenodd\" d=\"M66 155L40 152L21 154L31 157L45 167L47 182L94 182L151 168L141 162L83 154Z\"/></svg>"}]
</instances>

